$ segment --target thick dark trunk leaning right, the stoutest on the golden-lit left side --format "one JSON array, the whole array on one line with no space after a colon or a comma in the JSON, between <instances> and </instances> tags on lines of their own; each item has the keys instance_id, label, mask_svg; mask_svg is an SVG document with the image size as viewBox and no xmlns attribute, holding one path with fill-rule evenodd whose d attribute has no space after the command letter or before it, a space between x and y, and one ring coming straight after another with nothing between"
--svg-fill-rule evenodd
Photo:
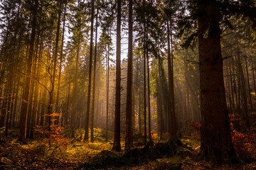
<instances>
[{"instance_id":1,"label":"thick dark trunk leaning right, the stoutest on the golden-lit left side","mask_svg":"<svg viewBox=\"0 0 256 170\"><path fill-rule=\"evenodd\" d=\"M18 141L25 142L26 140L26 123L27 123L27 115L28 115L28 100L29 100L29 90L31 85L31 71L32 71L32 60L33 60L33 47L36 37L36 26L37 26L37 13L38 13L38 0L35 0L34 8L33 8L33 19L32 19L32 31L31 31L31 40L29 47L29 54L27 59L27 69L26 69L26 81L23 92L23 100L21 104L21 120L20 120L20 132L18 135Z\"/></svg>"}]
</instances>

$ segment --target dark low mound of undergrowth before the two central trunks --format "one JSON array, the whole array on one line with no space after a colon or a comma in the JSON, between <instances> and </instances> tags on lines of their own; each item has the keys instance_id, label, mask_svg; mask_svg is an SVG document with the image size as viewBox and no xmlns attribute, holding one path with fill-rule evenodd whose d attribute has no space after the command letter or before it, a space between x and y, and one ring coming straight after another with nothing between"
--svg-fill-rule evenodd
<instances>
[{"instance_id":1,"label":"dark low mound of undergrowth before the two central trunks","mask_svg":"<svg viewBox=\"0 0 256 170\"><path fill-rule=\"evenodd\" d=\"M90 162L82 164L82 169L111 169L112 167L134 166L149 163L156 159L173 157L183 154L183 146L180 140L169 140L168 142L148 142L143 148L130 149L124 154L117 154L104 150L93 157Z\"/></svg>"}]
</instances>

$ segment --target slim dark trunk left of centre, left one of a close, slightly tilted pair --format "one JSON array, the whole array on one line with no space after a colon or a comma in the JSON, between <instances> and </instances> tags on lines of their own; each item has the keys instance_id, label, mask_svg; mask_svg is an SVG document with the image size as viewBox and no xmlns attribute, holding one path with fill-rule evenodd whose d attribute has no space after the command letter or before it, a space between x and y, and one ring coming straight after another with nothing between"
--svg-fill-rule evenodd
<instances>
[{"instance_id":1,"label":"slim dark trunk left of centre, left one of a close, slightly tilted pair","mask_svg":"<svg viewBox=\"0 0 256 170\"><path fill-rule=\"evenodd\" d=\"M91 13L91 28L90 28L90 59L89 59L89 83L87 94L87 109L85 116L85 142L89 142L89 116L90 116L90 94L91 94L91 81L92 81L92 41L93 41L93 21L94 21L94 8L95 1L92 0L92 13Z\"/></svg>"}]
</instances>

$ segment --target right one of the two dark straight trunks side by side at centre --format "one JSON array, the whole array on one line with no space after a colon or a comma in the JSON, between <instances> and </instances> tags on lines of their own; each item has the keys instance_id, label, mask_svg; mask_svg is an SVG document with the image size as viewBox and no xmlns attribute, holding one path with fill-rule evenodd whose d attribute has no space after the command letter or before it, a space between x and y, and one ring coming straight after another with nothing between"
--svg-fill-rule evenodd
<instances>
[{"instance_id":1,"label":"right one of the two dark straight trunks side by side at centre","mask_svg":"<svg viewBox=\"0 0 256 170\"><path fill-rule=\"evenodd\" d=\"M127 106L125 119L125 149L132 148L132 0L129 0L129 42L128 42L128 67L127 67Z\"/></svg>"}]
</instances>

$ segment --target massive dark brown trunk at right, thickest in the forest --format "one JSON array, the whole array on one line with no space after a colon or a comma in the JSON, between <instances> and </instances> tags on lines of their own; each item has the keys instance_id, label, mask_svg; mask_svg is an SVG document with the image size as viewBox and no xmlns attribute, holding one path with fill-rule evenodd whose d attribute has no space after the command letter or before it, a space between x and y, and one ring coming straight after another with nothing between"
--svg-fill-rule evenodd
<instances>
[{"instance_id":1,"label":"massive dark brown trunk at right, thickest in the forest","mask_svg":"<svg viewBox=\"0 0 256 170\"><path fill-rule=\"evenodd\" d=\"M198 3L207 13L210 2ZM225 98L223 59L218 18L198 16L198 50L201 89L201 157L213 164L235 162L238 157L230 135L230 121ZM209 21L210 20L210 21ZM206 35L208 28L208 35ZM207 36L207 37L206 37Z\"/></svg>"}]
</instances>

